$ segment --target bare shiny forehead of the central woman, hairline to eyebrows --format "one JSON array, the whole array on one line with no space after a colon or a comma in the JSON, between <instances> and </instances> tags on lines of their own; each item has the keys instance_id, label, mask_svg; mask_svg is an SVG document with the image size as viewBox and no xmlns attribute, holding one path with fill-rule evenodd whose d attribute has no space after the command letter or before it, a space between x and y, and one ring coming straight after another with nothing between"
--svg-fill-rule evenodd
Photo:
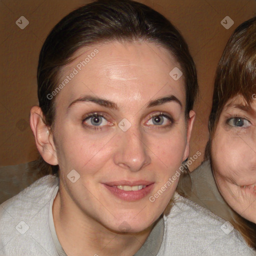
<instances>
[{"instance_id":1,"label":"bare shiny forehead of the central woman, hairline to eyebrows","mask_svg":"<svg viewBox=\"0 0 256 256\"><path fill-rule=\"evenodd\" d=\"M80 53L62 70L58 83L67 84L61 86L60 98L70 101L90 93L143 100L173 94L185 101L184 77L174 80L169 74L179 64L154 43L109 42L84 47Z\"/></svg>"}]
</instances>

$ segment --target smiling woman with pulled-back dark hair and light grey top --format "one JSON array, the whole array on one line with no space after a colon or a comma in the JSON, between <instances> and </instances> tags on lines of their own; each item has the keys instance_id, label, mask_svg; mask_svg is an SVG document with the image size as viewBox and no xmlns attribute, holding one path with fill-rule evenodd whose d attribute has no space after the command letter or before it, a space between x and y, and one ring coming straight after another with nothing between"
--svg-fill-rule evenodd
<instances>
[{"instance_id":1,"label":"smiling woman with pulled-back dark hair and light grey top","mask_svg":"<svg viewBox=\"0 0 256 256\"><path fill-rule=\"evenodd\" d=\"M46 38L37 82L30 126L48 175L1 205L1 254L252 255L175 193L197 79L166 18L129 0L84 5Z\"/></svg>"}]
</instances>

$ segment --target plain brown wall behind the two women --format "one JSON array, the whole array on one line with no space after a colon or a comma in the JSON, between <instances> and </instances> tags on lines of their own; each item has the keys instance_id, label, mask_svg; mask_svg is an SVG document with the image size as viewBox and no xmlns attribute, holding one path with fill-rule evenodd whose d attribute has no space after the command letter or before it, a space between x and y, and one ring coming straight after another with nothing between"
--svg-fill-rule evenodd
<instances>
[{"instance_id":1,"label":"plain brown wall behind the two women","mask_svg":"<svg viewBox=\"0 0 256 256\"><path fill-rule=\"evenodd\" d=\"M29 110L37 104L36 68L40 48L50 29L86 0L0 0L0 166L32 161L36 147L29 126ZM255 0L139 0L163 15L181 31L197 66L200 95L190 156L202 155L207 142L214 71L234 28L256 15ZM29 24L20 29L16 20ZM224 28L229 16L234 24Z\"/></svg>"}]
</instances>

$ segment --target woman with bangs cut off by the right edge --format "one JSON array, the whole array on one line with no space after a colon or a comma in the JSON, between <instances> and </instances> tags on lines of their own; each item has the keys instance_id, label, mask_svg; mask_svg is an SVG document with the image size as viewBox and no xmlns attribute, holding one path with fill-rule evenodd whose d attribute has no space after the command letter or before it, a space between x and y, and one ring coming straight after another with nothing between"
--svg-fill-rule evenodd
<instances>
[{"instance_id":1,"label":"woman with bangs cut off by the right edge","mask_svg":"<svg viewBox=\"0 0 256 256\"><path fill-rule=\"evenodd\" d=\"M219 60L209 116L206 160L190 174L192 192L187 189L191 182L188 176L180 180L180 188L189 198L231 221L256 249L255 91L256 17L253 17L234 30ZM210 169L225 201L215 189ZM213 204L213 198L222 206Z\"/></svg>"}]
</instances>

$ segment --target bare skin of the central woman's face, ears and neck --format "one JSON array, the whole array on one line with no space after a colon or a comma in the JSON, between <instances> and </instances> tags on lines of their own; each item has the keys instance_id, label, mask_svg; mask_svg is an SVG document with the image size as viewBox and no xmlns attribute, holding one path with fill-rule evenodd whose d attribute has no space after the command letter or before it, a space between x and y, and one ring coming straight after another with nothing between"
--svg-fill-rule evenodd
<instances>
[{"instance_id":1,"label":"bare skin of the central woman's face, ears and neck","mask_svg":"<svg viewBox=\"0 0 256 256\"><path fill-rule=\"evenodd\" d=\"M98 53L53 98L53 130L47 134L37 106L31 109L30 125L44 160L59 164L60 187L53 202L53 219L66 253L132 255L174 193L178 179L154 202L148 199L188 156L194 111L185 119L184 77L175 81L169 75L179 64L154 43L108 42L82 48L62 70L59 81L95 48ZM115 102L119 110L88 101L68 108L73 100L88 94ZM170 94L181 106L172 100L147 107L148 101ZM104 115L102 129L93 129L93 117L83 121L86 114L95 111ZM155 124L157 117L150 114L159 118L160 111L172 121L163 117ZM131 124L126 131L118 127L123 118ZM75 183L67 178L72 169L80 175ZM119 180L147 180L153 189L142 199L125 201L103 185ZM121 232L120 225L128 232Z\"/></svg>"}]
</instances>

